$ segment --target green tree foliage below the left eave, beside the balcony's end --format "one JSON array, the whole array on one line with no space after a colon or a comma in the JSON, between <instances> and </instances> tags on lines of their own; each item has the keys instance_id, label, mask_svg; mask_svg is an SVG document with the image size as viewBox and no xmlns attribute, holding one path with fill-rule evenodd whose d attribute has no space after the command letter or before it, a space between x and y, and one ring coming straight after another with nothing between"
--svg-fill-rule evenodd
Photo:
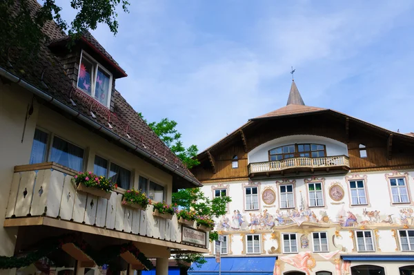
<instances>
[{"instance_id":1,"label":"green tree foliage below the left eave, beside the balcony's end","mask_svg":"<svg viewBox=\"0 0 414 275\"><path fill-rule=\"evenodd\" d=\"M208 216L210 218L219 218L227 213L227 204L231 202L228 196L210 199L204 195L199 188L180 189L172 193L172 203L177 203L180 209L195 210L199 216ZM218 239L217 231L210 231L210 241ZM187 264L195 263L197 266L206 263L203 254L175 254L174 259L177 265L187 267Z\"/></svg>"}]
</instances>

